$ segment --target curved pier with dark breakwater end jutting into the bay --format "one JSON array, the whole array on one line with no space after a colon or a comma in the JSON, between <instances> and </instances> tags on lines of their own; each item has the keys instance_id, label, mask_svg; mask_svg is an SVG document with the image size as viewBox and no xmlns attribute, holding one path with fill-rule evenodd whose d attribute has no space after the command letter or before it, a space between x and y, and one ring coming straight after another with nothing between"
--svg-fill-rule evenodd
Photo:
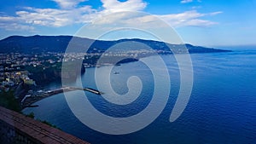
<instances>
[{"instance_id":1,"label":"curved pier with dark breakwater end jutting into the bay","mask_svg":"<svg viewBox=\"0 0 256 144\"><path fill-rule=\"evenodd\" d=\"M26 107L38 107L37 105L32 105L32 104L37 102L37 101L41 101L44 98L47 98L49 96L61 94L63 92L74 91L74 90L89 91L90 93L93 93L93 94L96 94L96 95L102 95L103 94L101 91L96 90L96 89L91 89L91 88L62 87L62 88L59 88L59 89L42 91L38 95L26 96L24 98L24 100L21 101L21 107L22 107L22 109L24 109Z\"/></svg>"}]
</instances>

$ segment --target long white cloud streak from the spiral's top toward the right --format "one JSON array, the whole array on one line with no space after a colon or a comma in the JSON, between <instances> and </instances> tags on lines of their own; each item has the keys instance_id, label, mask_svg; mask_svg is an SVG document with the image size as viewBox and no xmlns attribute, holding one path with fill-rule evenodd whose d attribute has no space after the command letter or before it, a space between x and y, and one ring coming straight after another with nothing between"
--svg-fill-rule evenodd
<instances>
[{"instance_id":1,"label":"long white cloud streak from the spiral's top toward the right","mask_svg":"<svg viewBox=\"0 0 256 144\"><path fill-rule=\"evenodd\" d=\"M119 14L108 14L97 19L94 23L95 29L109 29L115 27L142 27L146 29L160 29L166 28L167 25L162 23L161 20L165 20L167 24L173 27L182 26L200 26L207 27L212 25L218 25L218 22L211 20L204 20L206 16L212 16L220 14L221 12L213 12L202 14L196 10L185 11L179 14L161 14L161 15L150 15L145 13L119 13Z\"/></svg>"}]
</instances>

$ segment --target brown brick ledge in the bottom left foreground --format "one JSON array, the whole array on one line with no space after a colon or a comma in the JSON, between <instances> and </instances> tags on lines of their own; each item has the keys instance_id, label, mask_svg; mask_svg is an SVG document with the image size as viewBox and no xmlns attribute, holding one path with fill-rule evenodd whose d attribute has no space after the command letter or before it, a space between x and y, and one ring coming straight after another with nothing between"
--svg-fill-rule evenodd
<instances>
[{"instance_id":1,"label":"brown brick ledge in the bottom left foreground","mask_svg":"<svg viewBox=\"0 0 256 144\"><path fill-rule=\"evenodd\" d=\"M0 143L89 144L18 112L0 107Z\"/></svg>"}]
</instances>

